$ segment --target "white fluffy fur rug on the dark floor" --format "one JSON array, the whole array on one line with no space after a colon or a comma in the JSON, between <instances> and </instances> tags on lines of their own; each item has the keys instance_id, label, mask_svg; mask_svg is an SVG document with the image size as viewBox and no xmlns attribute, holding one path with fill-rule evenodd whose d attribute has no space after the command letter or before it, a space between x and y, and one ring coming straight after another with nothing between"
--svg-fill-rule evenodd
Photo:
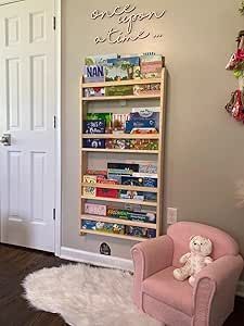
<instances>
[{"instance_id":1,"label":"white fluffy fur rug on the dark floor","mask_svg":"<svg viewBox=\"0 0 244 326\"><path fill-rule=\"evenodd\" d=\"M72 326L158 326L131 300L132 276L84 264L44 268L23 283L38 310L57 313Z\"/></svg>"}]
</instances>

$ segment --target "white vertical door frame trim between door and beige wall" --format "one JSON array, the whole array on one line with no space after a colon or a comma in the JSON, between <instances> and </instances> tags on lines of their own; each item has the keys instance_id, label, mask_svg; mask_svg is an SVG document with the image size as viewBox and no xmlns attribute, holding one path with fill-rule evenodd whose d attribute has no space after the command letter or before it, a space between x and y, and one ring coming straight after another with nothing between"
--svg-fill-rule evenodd
<instances>
[{"instance_id":1,"label":"white vertical door frame trim between door and beige wall","mask_svg":"<svg viewBox=\"0 0 244 326\"><path fill-rule=\"evenodd\" d=\"M1 5L22 2L25 0L0 0ZM55 5L55 225L54 225L54 254L61 255L61 216L62 216L62 189L61 189L61 1L53 0ZM1 198L0 198L1 200ZM1 216L0 216L1 218Z\"/></svg>"}]
</instances>

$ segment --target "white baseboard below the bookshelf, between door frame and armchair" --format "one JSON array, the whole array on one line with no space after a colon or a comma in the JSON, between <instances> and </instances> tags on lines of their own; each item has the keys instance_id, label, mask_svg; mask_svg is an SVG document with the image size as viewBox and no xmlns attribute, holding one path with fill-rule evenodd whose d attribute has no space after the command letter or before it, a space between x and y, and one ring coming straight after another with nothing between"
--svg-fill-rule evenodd
<instances>
[{"instance_id":1,"label":"white baseboard below the bookshelf, between door frame and armchair","mask_svg":"<svg viewBox=\"0 0 244 326\"><path fill-rule=\"evenodd\" d=\"M133 263L131 260L126 260L112 255L98 254L68 247L61 247L60 258L68 261L92 264L101 267L117 268L129 272L133 271Z\"/></svg>"}]
</instances>

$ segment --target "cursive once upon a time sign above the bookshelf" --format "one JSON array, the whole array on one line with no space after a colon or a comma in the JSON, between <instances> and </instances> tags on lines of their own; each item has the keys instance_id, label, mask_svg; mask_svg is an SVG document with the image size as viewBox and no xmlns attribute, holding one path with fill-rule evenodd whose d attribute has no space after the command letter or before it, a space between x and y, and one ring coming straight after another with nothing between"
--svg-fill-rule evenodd
<instances>
[{"instance_id":1,"label":"cursive once upon a time sign above the bookshelf","mask_svg":"<svg viewBox=\"0 0 244 326\"><path fill-rule=\"evenodd\" d=\"M162 38L162 34L152 35L147 29L141 29L134 32L134 25L137 22L151 21L153 18L160 20L166 14L166 10L162 12L147 11L137 12L137 7L126 4L124 7L116 5L113 10L93 10L91 13L91 20L104 20L104 18L117 18L118 25L126 26L126 29L119 27L111 27L105 32L104 36L95 36L94 42L99 43L125 43L129 41L137 41L151 37Z\"/></svg>"}]
</instances>

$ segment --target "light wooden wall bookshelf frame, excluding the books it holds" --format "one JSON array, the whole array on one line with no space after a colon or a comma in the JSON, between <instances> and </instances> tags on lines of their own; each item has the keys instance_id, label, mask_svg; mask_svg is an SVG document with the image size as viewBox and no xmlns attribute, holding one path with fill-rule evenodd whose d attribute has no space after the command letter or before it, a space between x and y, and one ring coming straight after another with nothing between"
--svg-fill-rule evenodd
<instances>
[{"instance_id":1,"label":"light wooden wall bookshelf frame, excluding the books it holds","mask_svg":"<svg viewBox=\"0 0 244 326\"><path fill-rule=\"evenodd\" d=\"M133 96L103 96L103 97L85 97L85 89L90 87L110 87L110 86L127 86L127 85L146 85L146 84L160 84L160 93L152 93L152 95L133 95ZM120 80L120 82L104 82L104 83L82 83L80 82L80 117L81 121L86 120L87 112L92 112L94 102L110 102L116 101L119 105L119 101L140 101L140 106L143 106L143 100L146 100L145 106L149 106L147 100L153 100L158 103L159 106L159 133L158 134L95 134L88 135L82 131L82 123L80 122L80 221L94 221L110 224L119 224L125 226L134 226L134 227L144 227L147 229L156 230L156 236L162 235L162 225L163 225L163 174L164 174L164 138L165 138L165 100L166 100L166 70L163 70L162 78L155 79L132 79L132 80ZM92 105L91 105L92 103ZM102 106L102 105L101 105ZM129 105L128 105L129 106ZM130 105L131 106L131 105ZM155 106L155 104L153 104ZM98 109L99 106L97 106ZM104 106L102 106L104 108ZM104 110L104 109L103 109ZM98 110L95 111L98 112ZM105 111L107 112L107 111ZM111 112L111 111L110 111ZM113 111L116 113L116 111ZM84 148L84 139L156 139L158 141L157 150L137 150L137 149L97 149L97 148ZM127 186L127 185L111 185L111 184L87 184L84 183L84 175L87 173L87 168L89 167L90 153L92 153L92 158L101 159L103 153L116 155L119 154L119 162L123 163L121 155L125 154L125 160L128 162L128 158L130 154L133 155L131 161L134 161L134 155L137 154L146 154L150 155L146 161L153 161L157 163L157 188L151 187L136 187L136 186ZM141 155L140 155L141 156ZM136 161L140 161L140 156L137 158ZM114 156L113 156L114 158ZM152 158L152 159L151 159ZM114 160L114 159L113 159ZM99 168L98 168L99 170ZM94 187L94 188L103 188L103 189L117 189L117 190L128 190L128 191L146 191L156 193L156 201L140 201L133 199L120 199L120 198L104 198L104 197L89 197L84 196L82 189L84 187ZM101 202L101 204L107 204L113 206L115 203L116 208L123 208L125 204L130 204L134 206L149 208L150 210L156 212L156 223L143 223L138 221L128 221L123 218L112 218L110 216L98 216L90 215L85 213L85 203L86 202ZM144 209L145 209L144 208ZM147 210L149 210L147 209ZM101 230L92 230L92 229L82 229L80 228L80 235L95 235L102 237L111 237L111 238L119 238L124 240L132 240L132 241L145 241L146 238L140 238L136 236L121 235L115 233L106 233Z\"/></svg>"}]
</instances>

